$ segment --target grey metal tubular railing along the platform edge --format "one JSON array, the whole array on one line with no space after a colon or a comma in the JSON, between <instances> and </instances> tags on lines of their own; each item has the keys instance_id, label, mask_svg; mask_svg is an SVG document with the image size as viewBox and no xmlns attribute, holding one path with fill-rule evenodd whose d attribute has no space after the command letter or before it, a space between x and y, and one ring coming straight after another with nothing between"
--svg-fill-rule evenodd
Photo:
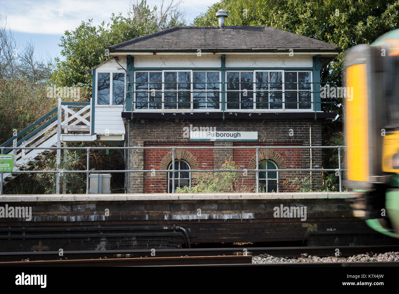
<instances>
[{"instance_id":1,"label":"grey metal tubular railing along the platform edge","mask_svg":"<svg viewBox=\"0 0 399 294\"><path fill-rule=\"evenodd\" d=\"M8 147L8 149L43 149L42 147ZM51 149L56 149L57 151L61 150L86 150L87 153L87 165L86 170L81 171L72 171L72 170L55 170L55 171L13 171L12 173L56 173L59 177L60 174L63 173L86 173L86 194L89 194L89 175L90 173L172 173L172 193L175 193L175 178L176 173L178 172L243 172L243 169L189 169L189 170L180 170L175 169L175 160L176 160L176 150L178 149L255 149L256 150L256 158L257 158L257 166L256 169L245 169L247 172L255 172L257 175L257 193L259 193L259 173L266 171L277 171L277 172L288 172L288 171L327 171L327 172L336 172L338 173L339 183L340 183L340 192L342 192L342 169L341 166L341 150L346 148L346 146L162 146L162 147L51 147ZM5 147L1 147L1 153L4 154ZM90 150L106 150L106 149L119 149L119 150L145 150L145 149L169 149L172 151L172 169L132 169L132 170L90 170ZM338 149L338 168L337 169L259 169L259 150L261 149ZM58 182L58 181L57 181ZM57 189L59 191L59 189ZM3 194L3 172L0 172L0 195Z\"/></svg>"}]
</instances>

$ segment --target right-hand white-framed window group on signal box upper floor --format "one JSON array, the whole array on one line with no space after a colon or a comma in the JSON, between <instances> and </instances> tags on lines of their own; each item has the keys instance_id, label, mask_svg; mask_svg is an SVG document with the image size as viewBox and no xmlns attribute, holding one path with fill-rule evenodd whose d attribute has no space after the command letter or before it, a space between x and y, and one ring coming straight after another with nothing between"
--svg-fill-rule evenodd
<instances>
[{"instance_id":1,"label":"right-hand white-framed window group on signal box upper floor","mask_svg":"<svg viewBox=\"0 0 399 294\"><path fill-rule=\"evenodd\" d=\"M227 71L226 82L226 109L312 109L310 71Z\"/></svg>"}]
</instances>

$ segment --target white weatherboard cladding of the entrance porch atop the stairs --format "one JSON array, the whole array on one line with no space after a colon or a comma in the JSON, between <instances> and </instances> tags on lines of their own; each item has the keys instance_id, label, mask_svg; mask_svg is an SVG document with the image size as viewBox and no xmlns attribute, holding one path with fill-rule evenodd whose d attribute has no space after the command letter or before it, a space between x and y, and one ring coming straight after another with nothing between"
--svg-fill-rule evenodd
<instances>
[{"instance_id":1,"label":"white weatherboard cladding of the entrance porch atop the stairs","mask_svg":"<svg viewBox=\"0 0 399 294\"><path fill-rule=\"evenodd\" d=\"M118 62L123 68L126 69L126 58L119 58ZM99 72L124 73L123 69L117 70L117 68L120 68L119 64L117 64L114 58L111 58L106 62L104 62L103 64L100 64L96 68L96 75ZM96 88L96 93L97 93L97 88ZM94 115L95 134L124 135L125 129L121 117L122 111L123 111L123 105L110 105L110 106L97 105L97 97L96 97L95 115Z\"/></svg>"}]
</instances>

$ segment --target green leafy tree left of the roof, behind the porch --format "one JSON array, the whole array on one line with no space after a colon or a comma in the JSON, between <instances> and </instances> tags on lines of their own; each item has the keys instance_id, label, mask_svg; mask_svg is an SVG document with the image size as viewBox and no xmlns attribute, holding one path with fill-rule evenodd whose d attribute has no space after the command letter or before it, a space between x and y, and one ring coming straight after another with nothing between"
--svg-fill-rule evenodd
<instances>
[{"instance_id":1,"label":"green leafy tree left of the roof, behind the porch","mask_svg":"<svg viewBox=\"0 0 399 294\"><path fill-rule=\"evenodd\" d=\"M163 10L162 10L163 9ZM111 21L93 25L93 20L82 21L73 31L65 31L61 37L61 56L56 59L52 81L59 86L80 86L91 96L92 76L88 72L109 58L107 46L184 25L181 12L176 5L165 8L150 6L145 0L130 7L128 17L112 14Z\"/></svg>"}]
</instances>

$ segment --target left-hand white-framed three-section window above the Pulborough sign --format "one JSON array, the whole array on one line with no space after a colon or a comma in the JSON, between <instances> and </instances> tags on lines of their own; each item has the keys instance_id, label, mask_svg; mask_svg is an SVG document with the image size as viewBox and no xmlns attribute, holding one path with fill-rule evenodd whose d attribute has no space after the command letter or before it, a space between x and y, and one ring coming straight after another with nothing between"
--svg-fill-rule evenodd
<instances>
[{"instance_id":1,"label":"left-hand white-framed three-section window above the Pulborough sign","mask_svg":"<svg viewBox=\"0 0 399 294\"><path fill-rule=\"evenodd\" d=\"M220 72L137 71L134 82L135 109L220 109Z\"/></svg>"}]
</instances>

